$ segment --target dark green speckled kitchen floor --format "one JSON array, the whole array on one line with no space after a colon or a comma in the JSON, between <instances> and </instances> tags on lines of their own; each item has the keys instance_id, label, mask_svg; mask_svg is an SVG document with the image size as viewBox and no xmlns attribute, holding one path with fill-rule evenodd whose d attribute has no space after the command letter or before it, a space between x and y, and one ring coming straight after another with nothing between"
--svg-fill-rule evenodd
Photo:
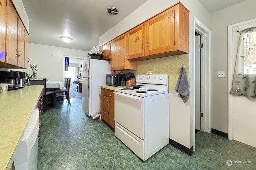
<instances>
[{"instance_id":1,"label":"dark green speckled kitchen floor","mask_svg":"<svg viewBox=\"0 0 256 170\"><path fill-rule=\"evenodd\" d=\"M226 161L251 161L227 166ZM190 157L167 145L145 162L114 135L103 121L89 118L81 98L59 101L43 115L38 141L38 170L255 170L256 149L218 135L196 133Z\"/></svg>"}]
</instances>

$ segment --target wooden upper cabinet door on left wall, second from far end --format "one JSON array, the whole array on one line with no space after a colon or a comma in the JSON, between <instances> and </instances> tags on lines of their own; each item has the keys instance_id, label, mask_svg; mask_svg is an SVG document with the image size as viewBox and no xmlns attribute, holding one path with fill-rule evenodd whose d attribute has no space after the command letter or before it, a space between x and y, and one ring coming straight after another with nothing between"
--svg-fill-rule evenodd
<instances>
[{"instance_id":1,"label":"wooden upper cabinet door on left wall, second from far end","mask_svg":"<svg viewBox=\"0 0 256 170\"><path fill-rule=\"evenodd\" d=\"M24 68L25 57L25 27L20 19L18 19L18 65Z\"/></svg>"}]
</instances>

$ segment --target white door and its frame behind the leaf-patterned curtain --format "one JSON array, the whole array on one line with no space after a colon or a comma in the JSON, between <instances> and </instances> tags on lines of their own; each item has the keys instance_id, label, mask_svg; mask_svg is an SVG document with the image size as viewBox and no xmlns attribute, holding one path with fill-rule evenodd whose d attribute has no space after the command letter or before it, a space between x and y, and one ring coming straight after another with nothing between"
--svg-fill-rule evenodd
<instances>
[{"instance_id":1,"label":"white door and its frame behind the leaf-patterned curtain","mask_svg":"<svg viewBox=\"0 0 256 170\"><path fill-rule=\"evenodd\" d=\"M256 19L228 26L228 91L233 81L240 31L256 26ZM256 98L228 94L228 139L256 147ZM243 106L243 107L241 107Z\"/></svg>"}]
</instances>

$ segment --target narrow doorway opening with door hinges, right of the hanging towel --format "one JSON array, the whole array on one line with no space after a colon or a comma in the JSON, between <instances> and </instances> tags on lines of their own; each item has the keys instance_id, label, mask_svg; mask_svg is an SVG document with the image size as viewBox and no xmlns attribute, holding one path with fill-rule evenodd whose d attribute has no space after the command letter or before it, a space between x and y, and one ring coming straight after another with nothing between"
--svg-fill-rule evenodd
<instances>
[{"instance_id":1,"label":"narrow doorway opening with door hinges, right of the hanging towel","mask_svg":"<svg viewBox=\"0 0 256 170\"><path fill-rule=\"evenodd\" d=\"M195 32L195 133L203 129L203 35Z\"/></svg>"}]
</instances>

